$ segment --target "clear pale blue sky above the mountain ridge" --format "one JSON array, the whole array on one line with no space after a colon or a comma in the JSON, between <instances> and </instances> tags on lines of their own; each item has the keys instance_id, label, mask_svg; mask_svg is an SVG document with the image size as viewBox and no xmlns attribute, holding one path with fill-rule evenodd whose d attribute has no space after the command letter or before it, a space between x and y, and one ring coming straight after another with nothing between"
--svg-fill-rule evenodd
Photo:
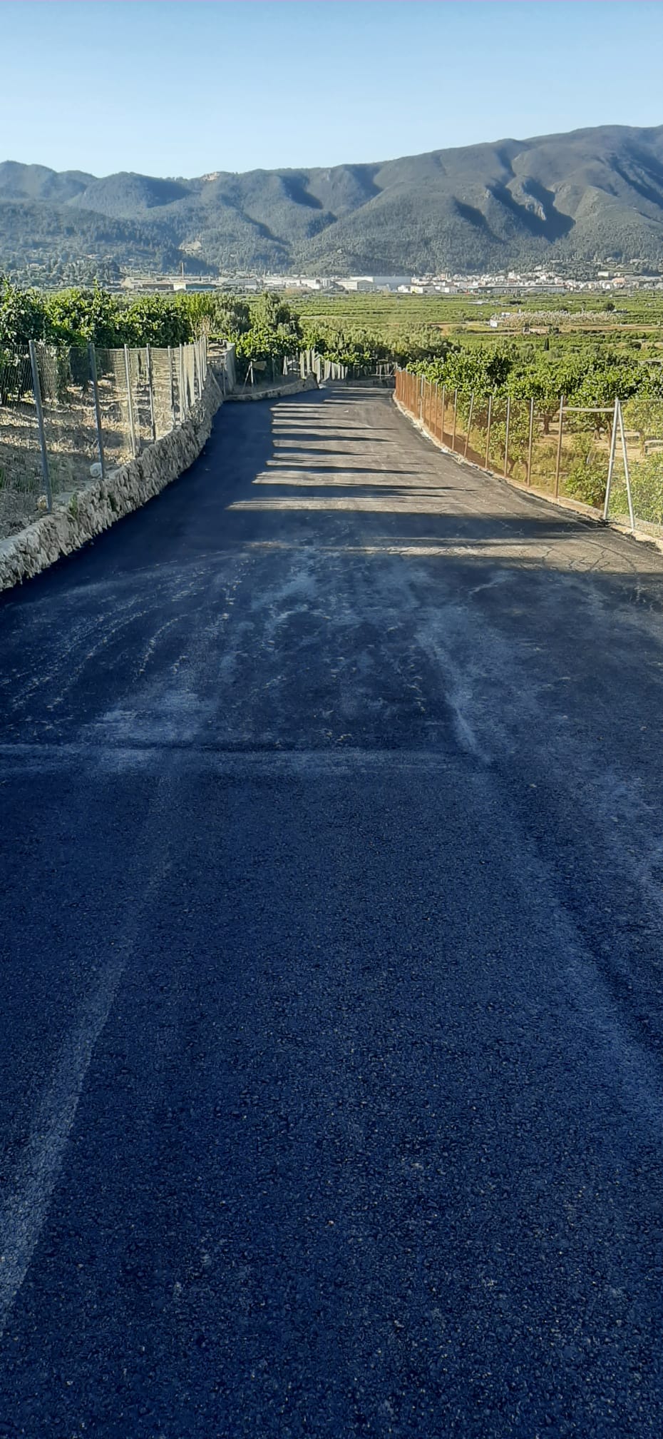
<instances>
[{"instance_id":1,"label":"clear pale blue sky above the mountain ridge","mask_svg":"<svg viewBox=\"0 0 663 1439\"><path fill-rule=\"evenodd\" d=\"M657 0L1 0L0 160L210 170L663 124Z\"/></svg>"}]
</instances>

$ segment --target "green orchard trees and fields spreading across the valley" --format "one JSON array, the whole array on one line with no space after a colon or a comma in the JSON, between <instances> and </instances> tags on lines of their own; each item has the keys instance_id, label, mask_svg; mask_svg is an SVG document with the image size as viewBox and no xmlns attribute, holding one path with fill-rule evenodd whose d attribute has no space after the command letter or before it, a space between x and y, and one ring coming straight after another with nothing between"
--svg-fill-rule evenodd
<instances>
[{"instance_id":1,"label":"green orchard trees and fields spreading across the valley","mask_svg":"<svg viewBox=\"0 0 663 1439\"><path fill-rule=\"evenodd\" d=\"M535 458L545 456L542 472L554 468L564 396L578 412L565 420L564 488L590 504L600 504L604 492L610 409L618 396L631 436L640 515L663 522L663 295L657 292L617 301L571 295L480 304L472 296L270 292L128 298L101 288L45 294L0 281L4 384L29 340L69 348L91 340L101 348L165 347L200 334L234 342L240 378L252 360L259 373L275 376L285 358L315 350L351 374L391 364L446 386L457 394L459 414L473 404L475 427L492 397L495 443L506 430L509 400L512 468L523 465L531 400L541 439Z\"/></svg>"}]
</instances>

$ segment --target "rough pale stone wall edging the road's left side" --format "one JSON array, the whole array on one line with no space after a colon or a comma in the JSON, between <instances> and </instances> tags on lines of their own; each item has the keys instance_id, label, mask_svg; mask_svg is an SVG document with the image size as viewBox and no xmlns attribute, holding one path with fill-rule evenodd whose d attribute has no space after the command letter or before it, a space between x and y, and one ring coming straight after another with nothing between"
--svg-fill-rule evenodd
<instances>
[{"instance_id":1,"label":"rough pale stone wall edging the road's left side","mask_svg":"<svg viewBox=\"0 0 663 1439\"><path fill-rule=\"evenodd\" d=\"M178 479L198 458L221 403L221 391L209 371L201 399L184 425L148 445L128 465L108 471L104 479L56 495L52 514L0 540L0 590L40 574Z\"/></svg>"}]
</instances>

